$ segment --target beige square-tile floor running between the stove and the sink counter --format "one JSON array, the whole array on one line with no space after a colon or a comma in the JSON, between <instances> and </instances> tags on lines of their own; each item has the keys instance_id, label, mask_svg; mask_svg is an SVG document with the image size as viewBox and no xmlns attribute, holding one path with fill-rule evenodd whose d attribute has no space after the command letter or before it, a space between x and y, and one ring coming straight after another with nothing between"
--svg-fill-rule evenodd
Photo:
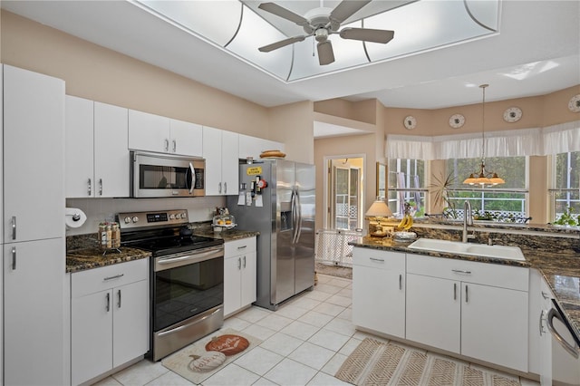
<instances>
[{"instance_id":1,"label":"beige square-tile floor running between the stove and the sink counter","mask_svg":"<svg viewBox=\"0 0 580 386\"><path fill-rule=\"evenodd\" d=\"M314 291L300 294L276 312L253 306L236 314L225 321L224 328L243 331L263 343L227 364L204 381L203 386L348 385L333 374L369 336L354 329L351 314L352 281L329 275L318 275ZM520 381L525 386L538 385L534 381ZM96 384L193 383L170 372L161 362L143 360Z\"/></svg>"}]
</instances>

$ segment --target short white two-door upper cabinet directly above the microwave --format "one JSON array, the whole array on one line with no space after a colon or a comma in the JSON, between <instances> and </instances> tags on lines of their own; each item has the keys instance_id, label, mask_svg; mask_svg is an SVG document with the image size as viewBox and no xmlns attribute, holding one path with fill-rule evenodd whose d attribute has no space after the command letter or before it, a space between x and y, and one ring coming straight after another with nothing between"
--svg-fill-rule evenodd
<instances>
[{"instance_id":1,"label":"short white two-door upper cabinet directly above the microwave","mask_svg":"<svg viewBox=\"0 0 580 386\"><path fill-rule=\"evenodd\" d=\"M129 149L201 157L202 128L143 111L129 111Z\"/></svg>"}]
</instances>

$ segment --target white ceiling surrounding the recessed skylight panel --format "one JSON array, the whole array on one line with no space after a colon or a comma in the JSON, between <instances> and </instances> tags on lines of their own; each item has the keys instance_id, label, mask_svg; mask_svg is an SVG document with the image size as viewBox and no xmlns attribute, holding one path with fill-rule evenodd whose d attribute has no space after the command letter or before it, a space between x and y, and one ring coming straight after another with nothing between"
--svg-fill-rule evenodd
<instances>
[{"instance_id":1,"label":"white ceiling surrounding the recessed skylight panel","mask_svg":"<svg viewBox=\"0 0 580 386\"><path fill-rule=\"evenodd\" d=\"M388 1L374 0L366 12L372 14ZM260 1L244 3L256 7ZM131 2L3 0L1 5L266 107L304 100L376 98L388 107L438 109L478 103L481 83L490 84L487 101L542 95L580 84L578 0L503 0L499 34L295 82L283 82Z\"/></svg>"}]
</instances>

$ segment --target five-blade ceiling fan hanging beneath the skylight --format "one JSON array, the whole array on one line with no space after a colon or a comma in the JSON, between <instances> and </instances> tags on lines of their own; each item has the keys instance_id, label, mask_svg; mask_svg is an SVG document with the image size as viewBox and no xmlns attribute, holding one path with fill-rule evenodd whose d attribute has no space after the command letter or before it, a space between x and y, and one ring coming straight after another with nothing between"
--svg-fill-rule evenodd
<instances>
[{"instance_id":1,"label":"five-blade ceiling fan hanging beneath the skylight","mask_svg":"<svg viewBox=\"0 0 580 386\"><path fill-rule=\"evenodd\" d=\"M338 31L341 24L360 10L364 5L371 3L371 0L343 0L339 5L331 10L330 8L319 7L308 11L304 16L275 3L262 3L258 5L270 14L282 17L304 28L304 35L289 37L279 42L271 43L258 48L262 53L269 53L286 45L302 42L309 36L316 39L318 51L318 63L321 65L334 62L333 45L328 40L330 34L339 34L343 39L360 40L373 43L391 42L394 31L377 30L371 28L343 28Z\"/></svg>"}]
</instances>

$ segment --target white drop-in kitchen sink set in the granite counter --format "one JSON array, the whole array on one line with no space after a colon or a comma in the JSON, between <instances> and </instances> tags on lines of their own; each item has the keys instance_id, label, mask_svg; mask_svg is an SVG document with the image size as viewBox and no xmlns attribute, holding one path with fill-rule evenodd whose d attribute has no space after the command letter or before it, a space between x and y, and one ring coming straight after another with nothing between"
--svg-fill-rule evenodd
<instances>
[{"instance_id":1,"label":"white drop-in kitchen sink set in the granite counter","mask_svg":"<svg viewBox=\"0 0 580 386\"><path fill-rule=\"evenodd\" d=\"M486 244L469 244L436 238L420 238L408 247L409 249L420 251L526 261L519 246L488 246Z\"/></svg>"}]
</instances>

